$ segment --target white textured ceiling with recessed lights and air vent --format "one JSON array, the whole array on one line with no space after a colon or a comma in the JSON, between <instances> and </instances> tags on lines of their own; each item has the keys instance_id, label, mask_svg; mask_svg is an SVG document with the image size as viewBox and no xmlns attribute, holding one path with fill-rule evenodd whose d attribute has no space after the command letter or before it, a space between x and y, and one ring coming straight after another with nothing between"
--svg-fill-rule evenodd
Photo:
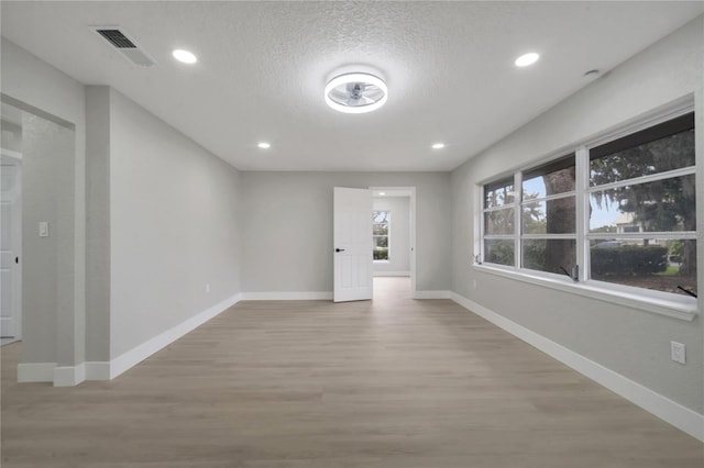
<instances>
[{"instance_id":1,"label":"white textured ceiling with recessed lights and air vent","mask_svg":"<svg viewBox=\"0 0 704 468\"><path fill-rule=\"evenodd\" d=\"M704 11L703 2L11 2L2 35L110 85L243 170L450 170ZM120 25L157 65L89 30ZM185 66L175 47L196 53ZM516 68L536 51L541 59ZM373 71L388 102L322 97ZM272 144L268 151L256 147ZM430 148L444 142L442 151Z\"/></svg>"}]
</instances>

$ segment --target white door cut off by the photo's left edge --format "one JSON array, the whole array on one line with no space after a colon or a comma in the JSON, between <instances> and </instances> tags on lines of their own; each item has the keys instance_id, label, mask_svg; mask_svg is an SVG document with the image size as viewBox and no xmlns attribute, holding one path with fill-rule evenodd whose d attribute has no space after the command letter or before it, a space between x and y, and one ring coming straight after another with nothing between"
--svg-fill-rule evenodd
<instances>
[{"instance_id":1,"label":"white door cut off by the photo's left edge","mask_svg":"<svg viewBox=\"0 0 704 468\"><path fill-rule=\"evenodd\" d=\"M21 338L21 185L20 164L3 157L0 166L0 337Z\"/></svg>"}]
</instances>

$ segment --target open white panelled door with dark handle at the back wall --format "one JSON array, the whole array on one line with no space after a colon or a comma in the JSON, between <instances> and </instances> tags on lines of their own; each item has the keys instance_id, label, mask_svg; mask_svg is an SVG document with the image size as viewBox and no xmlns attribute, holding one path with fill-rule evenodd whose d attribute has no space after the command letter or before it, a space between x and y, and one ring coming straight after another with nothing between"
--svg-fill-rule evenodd
<instances>
[{"instance_id":1,"label":"open white panelled door with dark handle at the back wall","mask_svg":"<svg viewBox=\"0 0 704 468\"><path fill-rule=\"evenodd\" d=\"M372 191L334 188L333 301L372 299Z\"/></svg>"}]
</instances>

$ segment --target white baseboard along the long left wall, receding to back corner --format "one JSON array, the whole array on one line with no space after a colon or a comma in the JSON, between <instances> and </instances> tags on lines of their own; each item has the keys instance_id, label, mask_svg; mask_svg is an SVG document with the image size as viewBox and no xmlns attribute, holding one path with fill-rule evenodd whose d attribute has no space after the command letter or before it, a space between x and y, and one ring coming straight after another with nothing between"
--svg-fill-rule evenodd
<instances>
[{"instance_id":1,"label":"white baseboard along the long left wall, receding to back corner","mask_svg":"<svg viewBox=\"0 0 704 468\"><path fill-rule=\"evenodd\" d=\"M147 357L152 356L154 353L170 345L176 339L194 331L216 315L224 312L227 309L237 304L241 300L242 294L235 294L229 299L226 299L224 301L217 303L216 305L200 312L199 314L191 316L185 322L116 357L110 361L110 379L114 379L119 375L136 366Z\"/></svg>"}]
</instances>

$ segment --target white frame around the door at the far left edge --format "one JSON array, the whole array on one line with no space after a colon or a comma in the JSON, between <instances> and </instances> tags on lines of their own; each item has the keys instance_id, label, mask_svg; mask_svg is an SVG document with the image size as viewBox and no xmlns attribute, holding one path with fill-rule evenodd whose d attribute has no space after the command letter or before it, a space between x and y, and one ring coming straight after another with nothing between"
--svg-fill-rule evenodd
<instances>
[{"instance_id":1,"label":"white frame around the door at the far left edge","mask_svg":"<svg viewBox=\"0 0 704 468\"><path fill-rule=\"evenodd\" d=\"M18 200L12 220L12 250L20 261L12 265L12 325L14 338L3 339L1 344L10 344L22 341L22 154L0 147L0 159L12 161L16 170ZM1 164L1 161L0 161ZM0 170L2 170L0 168Z\"/></svg>"}]
</instances>

